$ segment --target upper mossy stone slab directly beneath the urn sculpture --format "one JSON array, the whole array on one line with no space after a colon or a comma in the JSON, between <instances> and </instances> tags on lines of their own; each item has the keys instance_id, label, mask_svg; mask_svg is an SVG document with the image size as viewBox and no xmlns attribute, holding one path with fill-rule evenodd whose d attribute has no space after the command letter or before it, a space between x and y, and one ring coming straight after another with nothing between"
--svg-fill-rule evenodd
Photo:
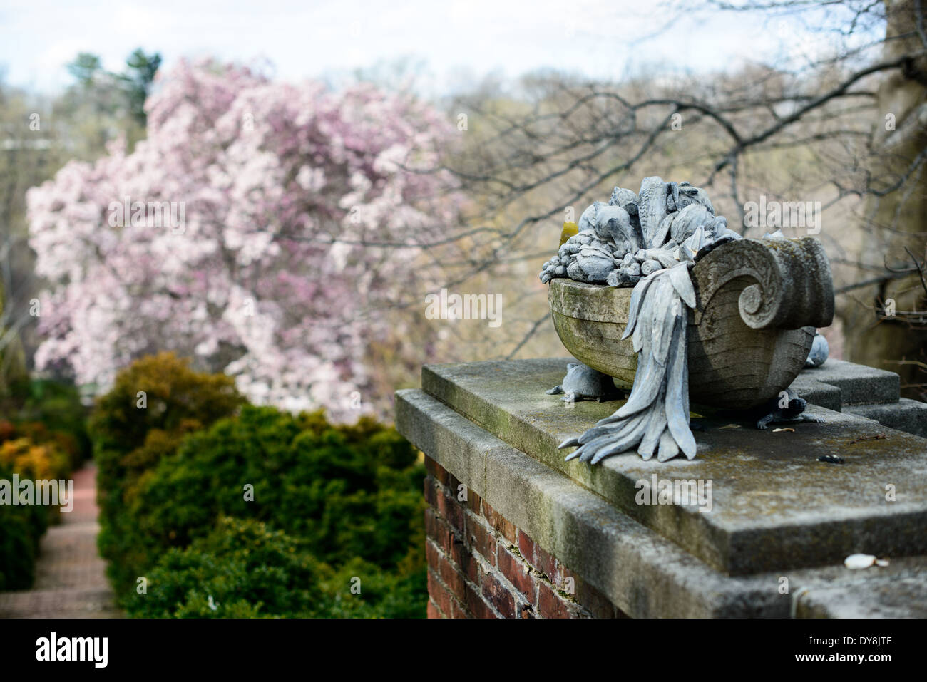
<instances>
[{"instance_id":1,"label":"upper mossy stone slab directly beneath the urn sculpture","mask_svg":"<svg viewBox=\"0 0 927 682\"><path fill-rule=\"evenodd\" d=\"M812 406L828 423L792 424L794 432L757 431L734 418L696 420L705 431L695 433L693 461L642 461L628 453L598 466L565 462L557 444L620 405L578 402L569 409L546 395L566 361L426 366L423 388L730 575L839 563L854 552L927 553L927 440ZM845 463L819 461L824 455ZM638 504L638 490L649 490L654 474L658 482L710 481L711 511L700 512L695 500ZM885 499L890 484L895 501Z\"/></svg>"}]
</instances>

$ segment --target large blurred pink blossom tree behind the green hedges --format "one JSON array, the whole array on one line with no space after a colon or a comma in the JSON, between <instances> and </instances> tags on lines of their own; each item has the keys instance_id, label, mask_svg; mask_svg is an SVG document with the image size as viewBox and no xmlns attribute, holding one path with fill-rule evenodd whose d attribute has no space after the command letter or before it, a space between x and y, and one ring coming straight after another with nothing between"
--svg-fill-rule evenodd
<instances>
[{"instance_id":1,"label":"large blurred pink blossom tree behind the green hedges","mask_svg":"<svg viewBox=\"0 0 927 682\"><path fill-rule=\"evenodd\" d=\"M335 93L212 61L159 78L146 112L131 154L112 145L29 192L48 283L37 366L103 390L168 349L258 403L375 407L369 347L412 334L388 313L429 285L423 246L455 220L447 178L416 172L451 121L373 85Z\"/></svg>"}]
</instances>

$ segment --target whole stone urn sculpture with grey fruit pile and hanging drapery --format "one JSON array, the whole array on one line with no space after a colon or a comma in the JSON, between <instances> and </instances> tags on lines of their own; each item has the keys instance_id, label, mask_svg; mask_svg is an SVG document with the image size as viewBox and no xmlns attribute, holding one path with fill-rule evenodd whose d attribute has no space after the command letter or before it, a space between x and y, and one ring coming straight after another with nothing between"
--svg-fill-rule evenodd
<instances>
[{"instance_id":1,"label":"whole stone urn sculpture with grey fruit pile and hanging drapery","mask_svg":"<svg viewBox=\"0 0 927 682\"><path fill-rule=\"evenodd\" d=\"M691 460L690 401L763 406L758 429L823 421L788 390L815 328L833 318L817 239L780 230L744 239L704 189L652 175L639 192L616 187L607 204L593 201L565 223L539 278L550 284L557 334L585 365L574 373L631 389L615 413L558 446L576 448L567 460L595 464L635 449L644 460Z\"/></svg>"}]
</instances>

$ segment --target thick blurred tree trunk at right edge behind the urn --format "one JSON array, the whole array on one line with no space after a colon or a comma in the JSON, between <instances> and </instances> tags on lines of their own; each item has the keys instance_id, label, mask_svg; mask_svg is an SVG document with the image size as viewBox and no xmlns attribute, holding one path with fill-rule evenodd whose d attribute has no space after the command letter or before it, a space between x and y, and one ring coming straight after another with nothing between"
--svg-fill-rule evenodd
<instances>
[{"instance_id":1,"label":"thick blurred tree trunk at right edge behind the urn","mask_svg":"<svg viewBox=\"0 0 927 682\"><path fill-rule=\"evenodd\" d=\"M916 4L916 0L885 0L888 24L884 59L913 55L925 49L918 35ZM909 32L914 35L893 39ZM927 259L927 161L916 165L927 147L927 58L911 59L905 68L891 71L879 87L877 101L879 120L870 164L872 184L883 189L903 177L907 179L885 196L868 196L858 262L882 266L884 259L892 267L901 264L910 267L906 246L921 262ZM871 271L858 272L859 280L871 276ZM927 324L911 321L905 315L921 311L925 313L922 317L927 317L927 291L920 277L914 274L857 289L855 294L840 301L844 309L847 360L900 373L902 385L927 383L927 372L923 369L898 364L899 360L927 360ZM886 303L887 312L891 313L893 301L895 316L886 316ZM912 387L903 393L918 398L924 389Z\"/></svg>"}]
</instances>

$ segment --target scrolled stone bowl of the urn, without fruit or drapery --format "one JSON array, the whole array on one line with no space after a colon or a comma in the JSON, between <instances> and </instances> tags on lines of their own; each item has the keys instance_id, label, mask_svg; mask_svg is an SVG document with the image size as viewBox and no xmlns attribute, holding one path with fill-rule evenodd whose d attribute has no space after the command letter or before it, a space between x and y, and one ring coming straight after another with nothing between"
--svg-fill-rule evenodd
<instances>
[{"instance_id":1,"label":"scrolled stone bowl of the urn, without fruit or drapery","mask_svg":"<svg viewBox=\"0 0 927 682\"><path fill-rule=\"evenodd\" d=\"M831 267L820 242L741 239L717 246L692 268L686 352L692 402L756 408L802 371L815 328L833 319ZM631 388L638 353L622 339L630 288L553 279L548 300L572 355Z\"/></svg>"}]
</instances>

